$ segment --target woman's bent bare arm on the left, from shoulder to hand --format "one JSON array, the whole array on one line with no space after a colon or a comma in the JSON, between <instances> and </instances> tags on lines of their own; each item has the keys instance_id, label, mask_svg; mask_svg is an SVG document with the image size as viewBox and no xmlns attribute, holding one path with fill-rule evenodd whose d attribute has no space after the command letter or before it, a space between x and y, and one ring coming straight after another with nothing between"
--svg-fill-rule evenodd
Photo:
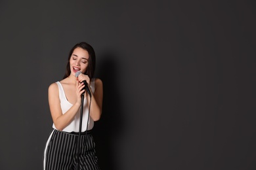
<instances>
[{"instance_id":1,"label":"woman's bent bare arm on the left, from shoulder to hand","mask_svg":"<svg viewBox=\"0 0 256 170\"><path fill-rule=\"evenodd\" d=\"M58 85L53 83L49 86L48 89L48 100L49 100L49 107L51 111L51 116L53 118L54 126L62 131L70 122L73 120L75 114L80 108L81 103L81 93L84 91L82 90L83 84L78 84L77 82L77 101L75 104L65 113L62 114L62 110L60 108L60 99L58 95Z\"/></svg>"}]
</instances>

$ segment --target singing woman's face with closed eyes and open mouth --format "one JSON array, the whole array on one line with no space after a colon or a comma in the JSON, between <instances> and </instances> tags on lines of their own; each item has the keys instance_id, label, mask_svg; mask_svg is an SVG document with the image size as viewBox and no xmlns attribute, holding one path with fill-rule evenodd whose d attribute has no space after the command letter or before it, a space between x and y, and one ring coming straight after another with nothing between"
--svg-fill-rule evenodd
<instances>
[{"instance_id":1,"label":"singing woman's face with closed eyes and open mouth","mask_svg":"<svg viewBox=\"0 0 256 170\"><path fill-rule=\"evenodd\" d=\"M77 71L85 73L88 67L89 53L83 48L77 47L70 57L70 74L75 76Z\"/></svg>"}]
</instances>

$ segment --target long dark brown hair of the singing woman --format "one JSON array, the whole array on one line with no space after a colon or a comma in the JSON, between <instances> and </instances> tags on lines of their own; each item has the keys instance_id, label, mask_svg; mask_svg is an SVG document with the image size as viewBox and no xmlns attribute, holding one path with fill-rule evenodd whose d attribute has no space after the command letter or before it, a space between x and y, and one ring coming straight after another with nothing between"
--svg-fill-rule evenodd
<instances>
[{"instance_id":1,"label":"long dark brown hair of the singing woman","mask_svg":"<svg viewBox=\"0 0 256 170\"><path fill-rule=\"evenodd\" d=\"M88 44L87 42L79 42L77 44L75 44L75 46L70 50L70 55L68 56L68 63L66 66L66 73L63 76L64 78L67 78L68 76L70 76L70 58L72 56L72 53L74 52L75 48L83 48L84 50L87 50L87 52L89 53L89 60L88 60L88 67L85 71L85 75L88 75L89 78L93 78L94 74L95 74L95 63L96 63L96 59L95 59L95 50L93 49L93 46L91 46L90 44Z\"/></svg>"}]
</instances>

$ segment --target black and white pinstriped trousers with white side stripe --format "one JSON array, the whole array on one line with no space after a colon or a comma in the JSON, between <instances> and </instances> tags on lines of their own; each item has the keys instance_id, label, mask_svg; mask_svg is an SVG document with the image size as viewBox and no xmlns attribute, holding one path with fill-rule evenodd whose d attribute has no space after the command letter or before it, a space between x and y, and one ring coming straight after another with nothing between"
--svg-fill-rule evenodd
<instances>
[{"instance_id":1,"label":"black and white pinstriped trousers with white side stripe","mask_svg":"<svg viewBox=\"0 0 256 170\"><path fill-rule=\"evenodd\" d=\"M77 162L78 133L66 133L53 129L43 156L44 170L71 170ZM95 155L95 143L90 131L81 135L79 169L99 170Z\"/></svg>"}]
</instances>

